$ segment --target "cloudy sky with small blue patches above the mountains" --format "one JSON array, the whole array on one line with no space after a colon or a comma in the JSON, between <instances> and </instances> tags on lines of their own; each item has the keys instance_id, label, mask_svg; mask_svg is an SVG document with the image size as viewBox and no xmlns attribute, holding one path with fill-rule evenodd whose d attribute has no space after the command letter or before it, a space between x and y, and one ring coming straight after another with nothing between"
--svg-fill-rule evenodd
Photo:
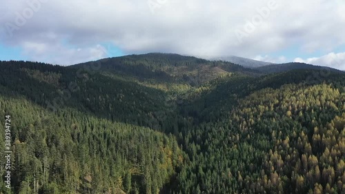
<instances>
[{"instance_id":1,"label":"cloudy sky with small blue patches above the mountains","mask_svg":"<svg viewBox=\"0 0 345 194\"><path fill-rule=\"evenodd\" d=\"M344 0L0 0L0 60L148 52L345 70Z\"/></svg>"}]
</instances>

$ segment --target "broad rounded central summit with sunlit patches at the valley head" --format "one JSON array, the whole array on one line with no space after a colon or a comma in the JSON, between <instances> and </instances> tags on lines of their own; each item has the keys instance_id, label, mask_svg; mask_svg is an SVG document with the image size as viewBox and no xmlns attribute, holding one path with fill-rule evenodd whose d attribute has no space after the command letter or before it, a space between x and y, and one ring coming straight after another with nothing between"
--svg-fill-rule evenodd
<instances>
[{"instance_id":1,"label":"broad rounded central summit with sunlit patches at the valley head","mask_svg":"<svg viewBox=\"0 0 345 194\"><path fill-rule=\"evenodd\" d=\"M174 83L198 85L215 79L220 75L239 72L243 75L261 75L261 72L239 66L227 61L208 61L168 53L148 53L128 55L77 64L72 68L99 66L106 72L131 75L136 79L155 79Z\"/></svg>"}]
</instances>

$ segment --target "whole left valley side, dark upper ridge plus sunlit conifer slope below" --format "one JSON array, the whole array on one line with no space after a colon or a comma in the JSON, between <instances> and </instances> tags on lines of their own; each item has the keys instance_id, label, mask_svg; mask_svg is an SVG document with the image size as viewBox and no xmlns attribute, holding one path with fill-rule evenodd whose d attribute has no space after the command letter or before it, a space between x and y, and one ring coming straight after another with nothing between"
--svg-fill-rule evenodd
<instances>
[{"instance_id":1,"label":"whole left valley side, dark upper ridge plus sunlit conifer slope below","mask_svg":"<svg viewBox=\"0 0 345 194\"><path fill-rule=\"evenodd\" d=\"M1 181L1 193L155 193L175 177L184 153L175 137L152 129L163 93L48 64L0 67L0 114L10 115L13 151L12 190Z\"/></svg>"}]
</instances>

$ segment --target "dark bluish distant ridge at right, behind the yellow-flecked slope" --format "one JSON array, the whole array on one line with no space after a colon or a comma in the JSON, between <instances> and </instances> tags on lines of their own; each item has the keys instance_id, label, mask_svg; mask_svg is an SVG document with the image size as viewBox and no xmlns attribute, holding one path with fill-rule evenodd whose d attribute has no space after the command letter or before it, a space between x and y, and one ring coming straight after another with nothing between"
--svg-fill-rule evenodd
<instances>
[{"instance_id":1,"label":"dark bluish distant ridge at right, behind the yellow-flecked slope","mask_svg":"<svg viewBox=\"0 0 345 194\"><path fill-rule=\"evenodd\" d=\"M335 68L328 68L323 66L313 66L311 64L304 64L304 63L287 63L287 64L271 64L268 66L262 66L259 68L255 68L259 70L259 72L264 73L275 73L275 72L284 72L288 70L296 70L296 69L313 69L313 70L322 70L324 72L342 72L341 70L337 70Z\"/></svg>"}]
</instances>

